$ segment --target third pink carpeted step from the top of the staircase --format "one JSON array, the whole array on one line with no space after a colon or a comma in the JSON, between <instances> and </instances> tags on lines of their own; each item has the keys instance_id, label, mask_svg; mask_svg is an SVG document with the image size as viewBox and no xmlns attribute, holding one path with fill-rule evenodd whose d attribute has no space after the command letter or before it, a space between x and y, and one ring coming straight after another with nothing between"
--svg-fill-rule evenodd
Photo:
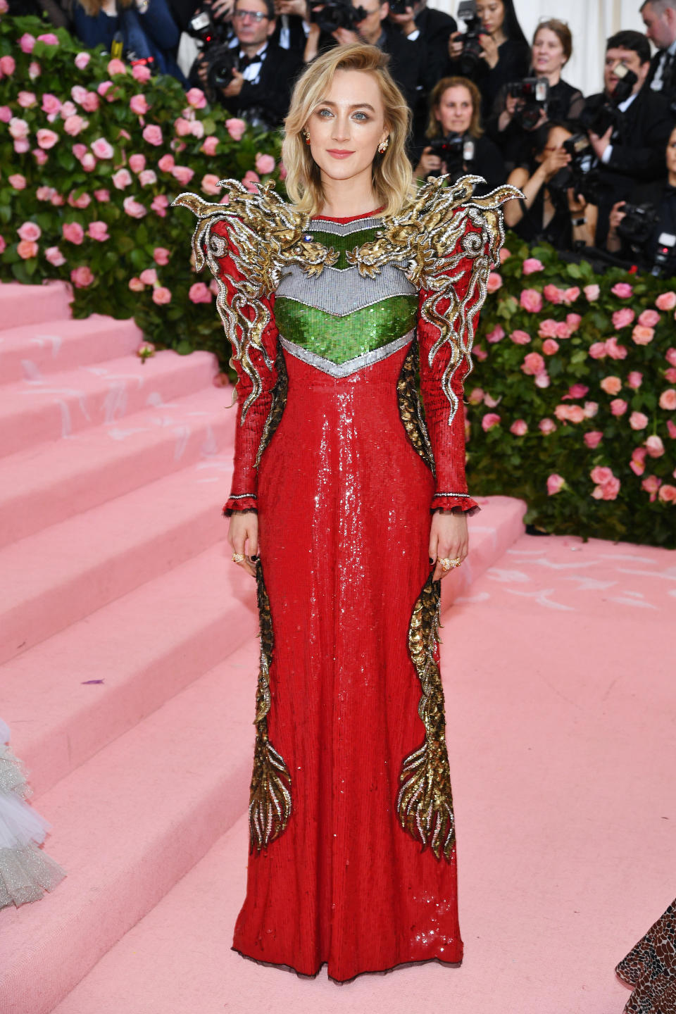
<instances>
[{"instance_id":1,"label":"third pink carpeted step from the top of the staircase","mask_svg":"<svg viewBox=\"0 0 676 1014\"><path fill-rule=\"evenodd\" d=\"M6 384L0 400L1 453L69 437L190 394L207 386L217 369L209 352L178 356L167 350L145 362L130 355Z\"/></svg>"}]
</instances>

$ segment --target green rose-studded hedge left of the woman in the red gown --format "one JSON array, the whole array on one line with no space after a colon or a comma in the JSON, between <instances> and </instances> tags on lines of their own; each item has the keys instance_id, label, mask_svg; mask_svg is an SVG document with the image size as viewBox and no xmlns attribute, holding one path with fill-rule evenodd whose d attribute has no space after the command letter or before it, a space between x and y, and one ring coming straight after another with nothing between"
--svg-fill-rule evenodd
<instances>
[{"instance_id":1,"label":"green rose-studded hedge left of the woman in the red gown","mask_svg":"<svg viewBox=\"0 0 676 1014\"><path fill-rule=\"evenodd\" d=\"M19 40L26 33L33 40L56 35L58 45L35 41L32 52L23 53ZM75 58L83 53L89 61L78 69ZM83 50L67 31L55 32L36 17L0 18L2 57L11 58L15 68L7 72L5 63L0 76L5 121L0 122L0 280L33 285L48 279L72 282L73 316L95 312L134 317L145 339L159 348L181 353L208 349L225 368L230 348L218 322L214 292L207 289L209 279L202 281L191 267L195 217L186 208L168 205L185 190L219 201L218 191L210 197L215 182L241 179L253 172L258 153L272 155L276 163L275 171L261 178L279 178L280 138L247 128L235 140L227 124L239 137L241 121L232 121L220 105L202 105L205 98L199 89L185 93L166 75L137 80L130 67L110 65L104 52ZM97 88L105 81L111 83L99 94ZM45 95L70 102L72 108L66 106L50 121L44 108L50 98ZM139 95L145 96L145 113L130 106ZM148 127L161 130L160 144L152 143ZM22 130L27 134L23 145L16 136ZM44 130L54 132L55 143L50 144L49 135L39 135ZM92 150L99 139L110 145L109 157L97 157L98 146ZM27 150L17 151L17 141L19 149ZM145 159L142 168L134 155ZM170 159L182 169L172 172ZM131 176L126 186L117 175L121 170ZM254 178L258 178L255 173ZM78 208L78 199L86 206ZM100 234L107 238L88 234L92 222L104 223ZM34 256L26 257L32 248L20 245L17 230L25 223L40 230ZM71 223L84 231L76 237L79 241L64 237L63 227ZM169 251L166 265L155 260L158 248ZM52 260L63 256L64 263L51 263L48 251ZM149 269L156 272L156 279L140 291L131 290L130 281ZM193 288L196 283L198 290ZM158 302L162 297L169 301Z\"/></svg>"}]
</instances>

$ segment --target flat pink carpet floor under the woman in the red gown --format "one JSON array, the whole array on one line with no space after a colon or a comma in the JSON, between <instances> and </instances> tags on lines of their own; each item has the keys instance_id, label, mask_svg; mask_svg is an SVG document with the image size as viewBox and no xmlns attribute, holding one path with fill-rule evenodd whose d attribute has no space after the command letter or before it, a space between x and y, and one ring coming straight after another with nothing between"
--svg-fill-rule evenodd
<instances>
[{"instance_id":1,"label":"flat pink carpet floor under the woman in the red gown","mask_svg":"<svg viewBox=\"0 0 676 1014\"><path fill-rule=\"evenodd\" d=\"M339 988L234 953L242 817L53 1014L619 1014L674 895L675 582L666 551L524 536L447 613L460 967Z\"/></svg>"}]
</instances>

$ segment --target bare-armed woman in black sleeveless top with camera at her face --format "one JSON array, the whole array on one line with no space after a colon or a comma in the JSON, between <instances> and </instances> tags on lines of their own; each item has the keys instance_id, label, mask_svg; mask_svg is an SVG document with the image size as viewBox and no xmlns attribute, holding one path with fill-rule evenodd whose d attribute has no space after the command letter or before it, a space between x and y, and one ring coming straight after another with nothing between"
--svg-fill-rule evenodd
<instances>
[{"instance_id":1,"label":"bare-armed woman in black sleeveless top with camera at her face","mask_svg":"<svg viewBox=\"0 0 676 1014\"><path fill-rule=\"evenodd\" d=\"M510 173L508 183L524 195L505 205L505 224L526 242L549 242L557 249L591 246L596 208L581 191L584 183L571 172L571 147L576 137L564 123L546 123L533 134L533 156L528 165ZM586 140L583 135L583 141ZM591 194L590 194L591 196Z\"/></svg>"}]
</instances>

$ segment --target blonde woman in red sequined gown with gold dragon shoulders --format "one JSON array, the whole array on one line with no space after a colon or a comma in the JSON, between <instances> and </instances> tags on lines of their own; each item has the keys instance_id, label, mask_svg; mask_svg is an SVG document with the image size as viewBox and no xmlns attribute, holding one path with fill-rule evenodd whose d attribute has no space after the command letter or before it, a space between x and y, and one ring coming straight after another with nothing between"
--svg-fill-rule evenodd
<instances>
[{"instance_id":1,"label":"blonde woman in red sequined gown with gold dragon shoulders","mask_svg":"<svg viewBox=\"0 0 676 1014\"><path fill-rule=\"evenodd\" d=\"M234 180L227 206L174 201L200 217L196 263L233 341L224 512L260 613L233 948L340 982L462 956L436 632L476 509L462 378L508 196L462 205L442 179L414 203L386 60L335 47L298 80L293 204Z\"/></svg>"}]
</instances>

